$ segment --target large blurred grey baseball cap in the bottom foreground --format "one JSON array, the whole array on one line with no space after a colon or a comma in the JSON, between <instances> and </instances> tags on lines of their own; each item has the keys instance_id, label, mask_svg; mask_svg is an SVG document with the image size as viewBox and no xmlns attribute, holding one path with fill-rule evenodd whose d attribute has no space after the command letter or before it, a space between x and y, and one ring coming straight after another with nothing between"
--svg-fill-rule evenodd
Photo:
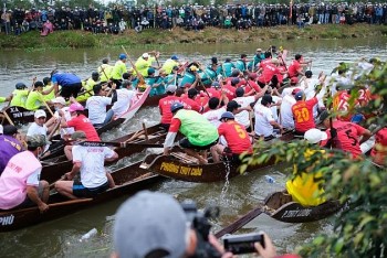
<instances>
[{"instance_id":1,"label":"large blurred grey baseball cap in the bottom foreground","mask_svg":"<svg viewBox=\"0 0 387 258\"><path fill-rule=\"evenodd\" d=\"M119 257L182 257L186 250L187 216L170 195L142 191L128 198L116 214L114 249ZM161 257L161 256L158 256Z\"/></svg>"}]
</instances>

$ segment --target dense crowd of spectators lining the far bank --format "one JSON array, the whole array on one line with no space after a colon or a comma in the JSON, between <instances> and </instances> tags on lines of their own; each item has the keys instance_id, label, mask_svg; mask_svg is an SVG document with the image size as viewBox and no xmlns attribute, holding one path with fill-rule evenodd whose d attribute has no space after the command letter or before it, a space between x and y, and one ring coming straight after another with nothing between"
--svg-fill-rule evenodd
<instances>
[{"instance_id":1,"label":"dense crowd of spectators lining the far bank","mask_svg":"<svg viewBox=\"0 0 387 258\"><path fill-rule=\"evenodd\" d=\"M62 7L38 10L4 9L1 14L1 32L20 34L31 30L43 30L44 23L54 30L85 30L93 33L118 34L127 29L140 32L148 28L172 30L202 30L219 26L249 30L252 26L305 24L369 24L387 23L387 3L297 3L289 4L237 4L219 7L115 7L95 9L93 7Z\"/></svg>"}]
</instances>

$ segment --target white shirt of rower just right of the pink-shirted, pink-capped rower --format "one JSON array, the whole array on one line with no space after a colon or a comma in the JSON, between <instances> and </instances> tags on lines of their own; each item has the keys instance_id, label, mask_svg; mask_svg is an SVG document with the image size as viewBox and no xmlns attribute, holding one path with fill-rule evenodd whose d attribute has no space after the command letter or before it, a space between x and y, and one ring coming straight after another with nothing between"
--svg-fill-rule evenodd
<instances>
[{"instance_id":1,"label":"white shirt of rower just right of the pink-shirted, pink-capped rower","mask_svg":"<svg viewBox=\"0 0 387 258\"><path fill-rule=\"evenodd\" d=\"M88 119L93 125L103 123L106 117L106 106L112 104L112 98L105 96L92 96L86 101Z\"/></svg>"}]
</instances>

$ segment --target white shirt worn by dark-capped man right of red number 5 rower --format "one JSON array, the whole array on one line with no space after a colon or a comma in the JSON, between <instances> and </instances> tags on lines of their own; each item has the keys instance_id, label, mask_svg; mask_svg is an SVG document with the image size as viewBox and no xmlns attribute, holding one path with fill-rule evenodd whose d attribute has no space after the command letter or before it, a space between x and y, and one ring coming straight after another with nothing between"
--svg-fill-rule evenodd
<instances>
[{"instance_id":1,"label":"white shirt worn by dark-capped man right of red number 5 rower","mask_svg":"<svg viewBox=\"0 0 387 258\"><path fill-rule=\"evenodd\" d=\"M269 137L273 135L274 128L270 125L271 121L275 121L273 112L270 108L262 106L260 103L257 103L254 106L255 115L255 126L254 131L258 136Z\"/></svg>"}]
</instances>

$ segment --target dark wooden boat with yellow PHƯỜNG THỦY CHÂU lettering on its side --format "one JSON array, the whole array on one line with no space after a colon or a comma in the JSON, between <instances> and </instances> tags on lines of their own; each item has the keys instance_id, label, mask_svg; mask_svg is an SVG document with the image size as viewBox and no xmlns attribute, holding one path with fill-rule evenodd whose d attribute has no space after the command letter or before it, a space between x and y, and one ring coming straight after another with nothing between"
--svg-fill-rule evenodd
<instances>
[{"instance_id":1,"label":"dark wooden boat with yellow PH\u01af\u1edcNG TH\u1ee6Y CH\u00c2U lettering on its side","mask_svg":"<svg viewBox=\"0 0 387 258\"><path fill-rule=\"evenodd\" d=\"M293 133L289 132L280 140L290 141L293 138ZM273 165L274 161L273 158L266 163L249 165L247 172ZM172 151L170 155L149 154L145 158L142 168L166 178L198 183L223 181L240 174L239 164L227 159L217 163L198 164L195 158L181 151Z\"/></svg>"}]
</instances>

